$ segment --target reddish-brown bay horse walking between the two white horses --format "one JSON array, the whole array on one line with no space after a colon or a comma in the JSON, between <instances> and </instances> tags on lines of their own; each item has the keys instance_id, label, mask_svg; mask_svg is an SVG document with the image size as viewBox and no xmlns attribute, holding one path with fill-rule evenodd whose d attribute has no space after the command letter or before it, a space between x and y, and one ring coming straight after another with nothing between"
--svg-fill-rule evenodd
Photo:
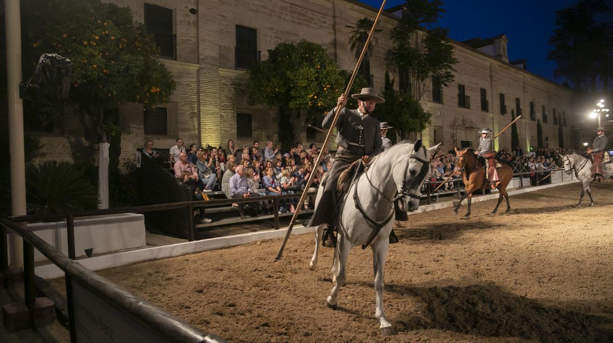
<instances>
[{"instance_id":1,"label":"reddish-brown bay horse walking between the two white horses","mask_svg":"<svg viewBox=\"0 0 613 343\"><path fill-rule=\"evenodd\" d=\"M470 203L473 199L473 192L478 189L489 189L490 184L485 182L486 171L481 161L474 156L474 150L471 148L465 148L462 150L455 149L455 155L457 159L457 167L458 170L463 170L462 179L464 181L465 191L464 195L458 200L457 205L454 208L454 214L458 214L458 209L460 205L462 205L463 200L468 197L468 211L464 215L465 219L470 217ZM500 183L496 188L500 192L498 195L498 203L496 207L492 211L492 214L495 214L498 211L498 206L502 202L502 199L506 199L506 213L511 211L511 204L509 203L509 194L506 192L506 186L511 182L511 178L513 178L513 170L506 164L501 164L502 168L498 169L498 179Z\"/></svg>"}]
</instances>

